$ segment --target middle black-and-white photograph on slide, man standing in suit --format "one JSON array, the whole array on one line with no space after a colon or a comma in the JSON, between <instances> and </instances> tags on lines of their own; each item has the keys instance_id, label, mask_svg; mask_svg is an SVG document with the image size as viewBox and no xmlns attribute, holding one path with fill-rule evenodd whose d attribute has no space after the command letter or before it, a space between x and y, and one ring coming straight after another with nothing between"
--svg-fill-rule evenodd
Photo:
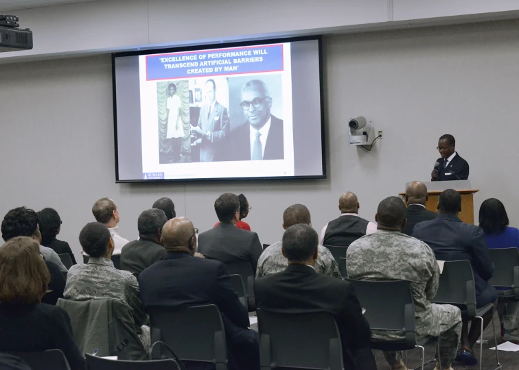
<instances>
[{"instance_id":1,"label":"middle black-and-white photograph on slide, man standing in suit","mask_svg":"<svg viewBox=\"0 0 519 370\"><path fill-rule=\"evenodd\" d=\"M229 83L227 77L189 80L190 86L202 89L203 101L191 104L192 162L218 162L224 160L230 134ZM194 87L200 86L200 88ZM198 118L197 118L198 117Z\"/></svg>"}]
</instances>

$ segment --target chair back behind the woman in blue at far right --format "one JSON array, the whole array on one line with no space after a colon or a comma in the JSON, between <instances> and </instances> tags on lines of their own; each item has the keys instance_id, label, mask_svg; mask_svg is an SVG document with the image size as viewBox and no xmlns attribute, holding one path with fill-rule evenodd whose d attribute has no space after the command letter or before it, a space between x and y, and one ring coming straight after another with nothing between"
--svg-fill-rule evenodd
<instances>
[{"instance_id":1,"label":"chair back behind the woman in blue at far right","mask_svg":"<svg viewBox=\"0 0 519 370\"><path fill-rule=\"evenodd\" d=\"M489 283L498 287L514 289L519 297L519 250L517 248L489 249L494 261L494 275Z\"/></svg>"}]
</instances>

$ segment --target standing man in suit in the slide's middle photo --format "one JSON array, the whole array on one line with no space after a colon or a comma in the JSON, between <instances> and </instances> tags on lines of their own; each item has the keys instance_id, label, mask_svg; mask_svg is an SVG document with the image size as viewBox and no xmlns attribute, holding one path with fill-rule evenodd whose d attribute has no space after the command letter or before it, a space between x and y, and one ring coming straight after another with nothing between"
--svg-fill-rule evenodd
<instances>
[{"instance_id":1,"label":"standing man in suit in the slide's middle photo","mask_svg":"<svg viewBox=\"0 0 519 370\"><path fill-rule=\"evenodd\" d=\"M216 101L214 79L205 83L205 99L207 106L200 109L198 126L192 130L201 136L196 141L200 144L200 162L214 162L221 160L224 142L230 132L227 108Z\"/></svg>"}]
</instances>

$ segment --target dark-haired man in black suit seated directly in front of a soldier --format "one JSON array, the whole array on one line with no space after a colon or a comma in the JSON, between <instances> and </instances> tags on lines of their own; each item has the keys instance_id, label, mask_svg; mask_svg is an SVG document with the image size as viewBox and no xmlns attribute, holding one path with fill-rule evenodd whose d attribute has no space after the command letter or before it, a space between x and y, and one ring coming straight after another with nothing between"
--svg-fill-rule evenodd
<instances>
[{"instance_id":1,"label":"dark-haired man in black suit seated directly in front of a soldier","mask_svg":"<svg viewBox=\"0 0 519 370\"><path fill-rule=\"evenodd\" d=\"M341 333L345 369L376 369L369 350L371 330L353 286L344 280L316 273L313 268L319 245L315 230L303 224L290 226L282 243L281 250L288 259L288 267L256 280L257 307L294 314L330 312Z\"/></svg>"}]
</instances>

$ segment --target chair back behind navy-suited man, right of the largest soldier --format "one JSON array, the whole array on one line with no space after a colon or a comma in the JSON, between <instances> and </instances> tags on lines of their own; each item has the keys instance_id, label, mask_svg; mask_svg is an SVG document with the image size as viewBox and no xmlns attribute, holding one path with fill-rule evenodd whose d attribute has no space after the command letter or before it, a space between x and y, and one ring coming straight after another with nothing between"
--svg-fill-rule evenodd
<instances>
[{"instance_id":1,"label":"chair back behind navy-suited man, right of the largest soldier","mask_svg":"<svg viewBox=\"0 0 519 370\"><path fill-rule=\"evenodd\" d=\"M476 317L476 286L469 260L445 261L439 277L436 304L452 304L466 310L469 319Z\"/></svg>"}]
</instances>

